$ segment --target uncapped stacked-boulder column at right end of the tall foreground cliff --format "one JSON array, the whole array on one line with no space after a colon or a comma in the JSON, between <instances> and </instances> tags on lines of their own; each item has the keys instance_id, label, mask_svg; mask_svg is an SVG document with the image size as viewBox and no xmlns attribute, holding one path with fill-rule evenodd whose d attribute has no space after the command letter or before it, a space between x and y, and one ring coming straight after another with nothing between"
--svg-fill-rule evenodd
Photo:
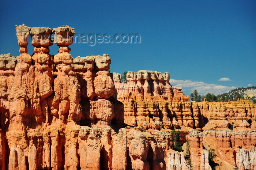
<instances>
[{"instance_id":1,"label":"uncapped stacked-boulder column at right end of the tall foreground cliff","mask_svg":"<svg viewBox=\"0 0 256 170\"><path fill-rule=\"evenodd\" d=\"M110 125L114 118L114 106L110 101L114 96L114 81L109 72L110 62L108 54L95 56L94 98L93 101L90 101L92 125Z\"/></svg>"}]
</instances>

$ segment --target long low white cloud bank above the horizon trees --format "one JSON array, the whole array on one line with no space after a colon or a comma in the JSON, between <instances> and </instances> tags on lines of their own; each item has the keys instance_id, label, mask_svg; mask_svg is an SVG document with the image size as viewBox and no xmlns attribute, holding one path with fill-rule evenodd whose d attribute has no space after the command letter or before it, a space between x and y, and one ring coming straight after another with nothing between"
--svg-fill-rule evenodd
<instances>
[{"instance_id":1,"label":"long low white cloud bank above the horizon trees","mask_svg":"<svg viewBox=\"0 0 256 170\"><path fill-rule=\"evenodd\" d=\"M193 82L191 80L174 80L170 79L170 83L173 86L177 87L182 87L184 90L191 91L193 92L194 90L197 90L199 94L207 94L209 93L214 93L215 95L217 94L222 94L223 92L230 91L236 87L231 86L221 86L218 84L210 84L210 83L204 83L204 82ZM184 91L182 90L182 91Z\"/></svg>"}]
</instances>

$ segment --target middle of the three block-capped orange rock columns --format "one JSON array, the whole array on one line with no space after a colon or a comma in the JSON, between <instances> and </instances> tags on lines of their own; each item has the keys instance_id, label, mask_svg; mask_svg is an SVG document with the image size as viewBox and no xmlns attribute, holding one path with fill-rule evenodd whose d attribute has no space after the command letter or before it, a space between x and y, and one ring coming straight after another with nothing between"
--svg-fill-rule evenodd
<instances>
[{"instance_id":1,"label":"middle of the three block-capped orange rock columns","mask_svg":"<svg viewBox=\"0 0 256 170\"><path fill-rule=\"evenodd\" d=\"M49 54L49 46L53 44L51 40L52 30L48 27L31 28L32 45L34 46L35 62L35 82L37 82L37 97L34 98L34 113L38 123L48 123L48 102L47 99L53 94L53 57ZM45 119L47 121L45 121Z\"/></svg>"}]
</instances>

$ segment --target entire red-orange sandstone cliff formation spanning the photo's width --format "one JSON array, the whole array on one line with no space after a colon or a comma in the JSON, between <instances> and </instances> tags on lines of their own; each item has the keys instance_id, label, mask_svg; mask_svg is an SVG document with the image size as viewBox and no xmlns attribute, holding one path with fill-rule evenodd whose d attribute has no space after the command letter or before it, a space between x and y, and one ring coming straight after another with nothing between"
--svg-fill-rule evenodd
<instances>
[{"instance_id":1,"label":"entire red-orange sandstone cliff formation spanning the photo's width","mask_svg":"<svg viewBox=\"0 0 256 170\"><path fill-rule=\"evenodd\" d=\"M16 30L22 54L0 56L1 170L189 170L174 128L190 141L193 170L211 169L210 148L226 169L256 168L253 103L189 102L169 73L128 72L121 83L108 54L72 58L74 28Z\"/></svg>"}]
</instances>

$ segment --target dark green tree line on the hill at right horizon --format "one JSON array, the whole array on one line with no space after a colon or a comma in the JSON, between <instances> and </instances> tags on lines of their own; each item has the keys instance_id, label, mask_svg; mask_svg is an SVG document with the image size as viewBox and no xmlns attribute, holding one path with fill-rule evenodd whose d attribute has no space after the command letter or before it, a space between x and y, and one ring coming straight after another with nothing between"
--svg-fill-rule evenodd
<instances>
[{"instance_id":1,"label":"dark green tree line on the hill at right horizon","mask_svg":"<svg viewBox=\"0 0 256 170\"><path fill-rule=\"evenodd\" d=\"M190 94L189 99L191 101L196 101L196 102L202 102L202 101L204 101L204 98L206 98L207 102L228 102L229 99L230 99L230 101L237 101L237 99L245 99L245 100L248 100L248 101L256 104L256 96L251 97L251 98L245 97L245 91L255 90L255 89L256 89L256 86L246 87L246 88L238 87L229 92L225 92L225 93L219 94L219 95L215 95L213 93L199 95L197 90L194 90Z\"/></svg>"}]
</instances>

